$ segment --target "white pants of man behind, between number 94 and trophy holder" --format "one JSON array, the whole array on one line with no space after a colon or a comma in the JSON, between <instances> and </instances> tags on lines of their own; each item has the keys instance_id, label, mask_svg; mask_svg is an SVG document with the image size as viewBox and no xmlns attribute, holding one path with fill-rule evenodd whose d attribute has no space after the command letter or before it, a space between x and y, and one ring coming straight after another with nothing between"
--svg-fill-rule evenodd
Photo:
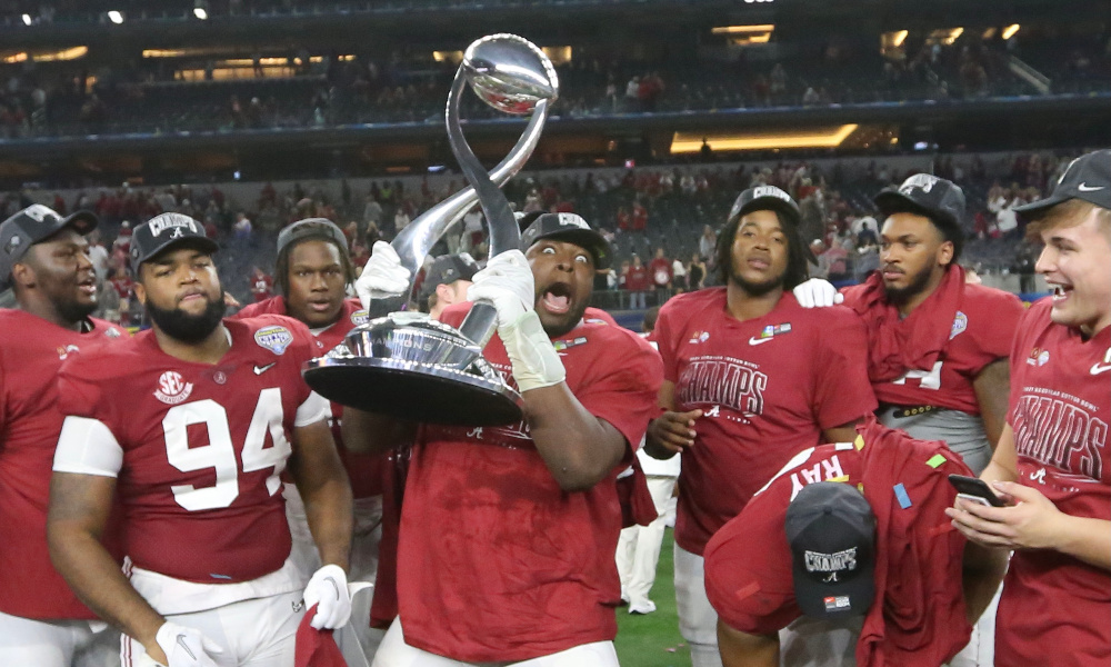
<instances>
[{"instance_id":1,"label":"white pants of man behind, between number 94 and trophy holder","mask_svg":"<svg viewBox=\"0 0 1111 667\"><path fill-rule=\"evenodd\" d=\"M286 519L289 521L289 532L293 538L290 556L308 580L320 568L317 542L313 541L312 532L309 530L304 504L297 492L297 487L287 484L282 489L282 496L286 497ZM378 545L382 541L382 497L359 498L354 501L353 510L354 531L351 535L351 567L348 580L373 584L378 574ZM351 620L336 631L336 644L339 645L348 667L369 667L386 634L370 627L373 590L370 588L367 593L354 596L351 600Z\"/></svg>"}]
</instances>

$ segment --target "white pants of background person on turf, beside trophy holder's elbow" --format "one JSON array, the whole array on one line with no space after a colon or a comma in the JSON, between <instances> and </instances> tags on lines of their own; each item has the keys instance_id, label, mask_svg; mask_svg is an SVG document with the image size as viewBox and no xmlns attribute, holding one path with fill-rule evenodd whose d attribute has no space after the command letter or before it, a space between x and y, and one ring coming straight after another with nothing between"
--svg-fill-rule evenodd
<instances>
[{"instance_id":1,"label":"white pants of background person on turf, beside trophy holder's elbow","mask_svg":"<svg viewBox=\"0 0 1111 667\"><path fill-rule=\"evenodd\" d=\"M655 583L665 515L675 479L657 476L648 478L648 490L652 494L652 502L659 516L648 526L630 526L621 530L618 539L618 575L621 577L621 591L627 596L630 607L649 601L648 594Z\"/></svg>"}]
</instances>

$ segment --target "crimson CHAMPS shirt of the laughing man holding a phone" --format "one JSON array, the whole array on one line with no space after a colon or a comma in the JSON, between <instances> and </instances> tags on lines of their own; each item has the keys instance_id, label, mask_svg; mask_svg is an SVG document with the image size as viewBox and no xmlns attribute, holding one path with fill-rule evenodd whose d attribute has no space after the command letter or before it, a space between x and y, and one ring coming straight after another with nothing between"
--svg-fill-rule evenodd
<instances>
[{"instance_id":1,"label":"crimson CHAMPS shirt of the laughing man holding a phone","mask_svg":"<svg viewBox=\"0 0 1111 667\"><path fill-rule=\"evenodd\" d=\"M1019 482L1067 515L1111 519L1111 328L1084 341L1030 307L1011 350L1008 424ZM1048 651L1052 650L1052 654ZM995 628L999 665L1107 667L1111 574L1051 549L1011 557Z\"/></svg>"}]
</instances>

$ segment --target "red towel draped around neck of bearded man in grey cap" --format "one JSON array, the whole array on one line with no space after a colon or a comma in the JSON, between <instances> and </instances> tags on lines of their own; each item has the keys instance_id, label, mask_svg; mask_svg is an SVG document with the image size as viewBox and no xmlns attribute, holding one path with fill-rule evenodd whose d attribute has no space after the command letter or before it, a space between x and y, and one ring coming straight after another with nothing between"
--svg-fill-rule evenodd
<instances>
[{"instance_id":1,"label":"red towel draped around neck of bearded man in grey cap","mask_svg":"<svg viewBox=\"0 0 1111 667\"><path fill-rule=\"evenodd\" d=\"M907 319L885 300L883 278L873 271L863 285L844 290L844 305L868 328L868 379L885 382L908 370L930 370L949 342L964 297L964 269L950 266L941 285Z\"/></svg>"}]
</instances>

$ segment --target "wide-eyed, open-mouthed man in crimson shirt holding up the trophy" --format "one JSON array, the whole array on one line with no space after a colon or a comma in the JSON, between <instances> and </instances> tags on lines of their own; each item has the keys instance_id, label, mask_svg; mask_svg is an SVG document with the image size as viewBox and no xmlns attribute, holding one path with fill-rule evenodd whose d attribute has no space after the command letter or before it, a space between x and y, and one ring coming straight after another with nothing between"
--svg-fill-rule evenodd
<instances>
[{"instance_id":1,"label":"wide-eyed, open-mouthed man in crimson shirt holding up the trophy","mask_svg":"<svg viewBox=\"0 0 1111 667\"><path fill-rule=\"evenodd\" d=\"M521 240L524 252L491 259L469 297L498 310L483 356L520 389L524 420L420 429L401 517L400 615L377 667L618 665L615 480L654 412L660 361L589 308L610 249L582 218L541 215ZM448 308L442 321L458 326L470 307ZM380 449L416 427L349 409L343 440Z\"/></svg>"}]
</instances>

